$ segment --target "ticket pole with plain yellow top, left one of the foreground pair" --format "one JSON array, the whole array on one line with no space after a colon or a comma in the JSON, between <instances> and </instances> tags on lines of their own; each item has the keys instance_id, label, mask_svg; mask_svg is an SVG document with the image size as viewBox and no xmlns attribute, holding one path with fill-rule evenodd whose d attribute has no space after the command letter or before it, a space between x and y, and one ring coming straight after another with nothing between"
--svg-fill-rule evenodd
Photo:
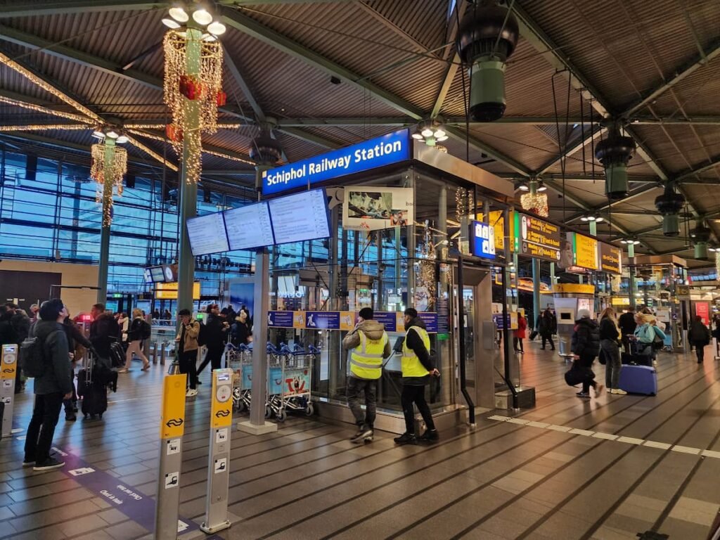
<instances>
[{"instance_id":1,"label":"ticket pole with plain yellow top, left one of the foreground pair","mask_svg":"<svg viewBox=\"0 0 720 540\"><path fill-rule=\"evenodd\" d=\"M156 540L176 540L178 536L186 384L186 374L167 375L163 381L158 504L155 508Z\"/></svg>"}]
</instances>

